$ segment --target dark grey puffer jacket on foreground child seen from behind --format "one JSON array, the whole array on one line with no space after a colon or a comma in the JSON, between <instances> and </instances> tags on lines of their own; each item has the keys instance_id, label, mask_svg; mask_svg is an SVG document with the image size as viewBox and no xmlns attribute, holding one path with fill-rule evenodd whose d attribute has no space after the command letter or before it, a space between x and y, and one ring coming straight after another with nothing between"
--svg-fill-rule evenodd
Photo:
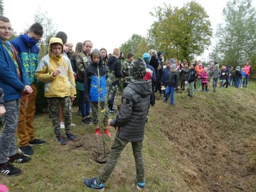
<instances>
[{"instance_id":1,"label":"dark grey puffer jacket on foreground child seen from behind","mask_svg":"<svg viewBox=\"0 0 256 192\"><path fill-rule=\"evenodd\" d=\"M144 139L151 92L151 80L130 82L125 87L119 114L111 122L113 127L118 127L117 138L129 142Z\"/></svg>"}]
</instances>

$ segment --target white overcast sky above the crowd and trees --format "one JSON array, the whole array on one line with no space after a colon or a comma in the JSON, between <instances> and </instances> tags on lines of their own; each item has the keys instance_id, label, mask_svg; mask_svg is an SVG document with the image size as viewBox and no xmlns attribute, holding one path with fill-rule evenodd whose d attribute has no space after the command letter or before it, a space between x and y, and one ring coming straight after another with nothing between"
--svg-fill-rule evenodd
<instances>
[{"instance_id":1,"label":"white overcast sky above the crowd and trees","mask_svg":"<svg viewBox=\"0 0 256 192\"><path fill-rule=\"evenodd\" d=\"M256 5L256 0L252 5ZM33 23L36 11L48 12L58 31L68 35L68 41L74 44L87 39L92 41L93 48L106 48L112 53L119 48L132 34L146 36L147 30L155 21L149 12L154 12L155 6L181 7L188 0L3 0L4 15L11 21L14 31L21 33ZM67 2L67 3L65 3ZM213 29L223 20L222 10L227 0L197 0L204 7Z\"/></svg>"}]
</instances>

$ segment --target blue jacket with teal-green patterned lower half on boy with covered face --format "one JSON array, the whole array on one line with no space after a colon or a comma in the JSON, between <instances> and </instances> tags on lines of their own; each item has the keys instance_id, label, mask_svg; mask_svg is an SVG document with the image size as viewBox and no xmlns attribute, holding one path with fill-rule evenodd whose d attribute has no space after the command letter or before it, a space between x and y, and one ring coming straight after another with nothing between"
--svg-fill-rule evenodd
<instances>
[{"instance_id":1,"label":"blue jacket with teal-green patterned lower half on boy with covered face","mask_svg":"<svg viewBox=\"0 0 256 192\"><path fill-rule=\"evenodd\" d=\"M30 46L25 38L23 38L23 35L14 38L10 42L18 52L18 56L26 72L26 78L32 84L35 80L35 71L39 63L38 46Z\"/></svg>"}]
</instances>

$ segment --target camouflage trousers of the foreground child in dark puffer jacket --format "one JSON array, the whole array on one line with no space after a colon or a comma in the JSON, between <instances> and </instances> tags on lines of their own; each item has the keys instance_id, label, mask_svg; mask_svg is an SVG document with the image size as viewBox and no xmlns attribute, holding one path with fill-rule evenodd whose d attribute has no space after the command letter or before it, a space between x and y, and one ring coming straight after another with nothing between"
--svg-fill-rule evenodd
<instances>
[{"instance_id":1,"label":"camouflage trousers of the foreground child in dark puffer jacket","mask_svg":"<svg viewBox=\"0 0 256 192\"><path fill-rule=\"evenodd\" d=\"M122 150L128 143L128 141L124 141L117 137L114 138L114 142L110 150L110 156L107 158L107 163L100 171L100 176L97 177L97 180L100 181L100 183L105 183L110 177L112 171L114 170L114 166L116 166L117 160L122 153ZM142 156L142 147L142 142L132 142L132 151L134 154L136 167L136 179L141 183L144 182L144 161Z\"/></svg>"}]
</instances>

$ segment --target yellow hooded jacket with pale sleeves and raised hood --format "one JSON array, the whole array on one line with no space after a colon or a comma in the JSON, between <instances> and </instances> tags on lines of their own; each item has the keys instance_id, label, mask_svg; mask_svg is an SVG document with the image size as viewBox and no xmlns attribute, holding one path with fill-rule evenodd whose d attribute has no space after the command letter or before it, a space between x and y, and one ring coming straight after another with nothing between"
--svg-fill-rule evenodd
<instances>
[{"instance_id":1,"label":"yellow hooded jacket with pale sleeves and raised hood","mask_svg":"<svg viewBox=\"0 0 256 192\"><path fill-rule=\"evenodd\" d=\"M40 60L35 72L36 78L45 82L45 97L74 97L76 95L75 78L70 60L63 55L63 49L60 56L56 57L50 50L52 43L60 43L63 47L60 38L50 38L48 55ZM55 70L59 70L60 74L53 78Z\"/></svg>"}]
</instances>

